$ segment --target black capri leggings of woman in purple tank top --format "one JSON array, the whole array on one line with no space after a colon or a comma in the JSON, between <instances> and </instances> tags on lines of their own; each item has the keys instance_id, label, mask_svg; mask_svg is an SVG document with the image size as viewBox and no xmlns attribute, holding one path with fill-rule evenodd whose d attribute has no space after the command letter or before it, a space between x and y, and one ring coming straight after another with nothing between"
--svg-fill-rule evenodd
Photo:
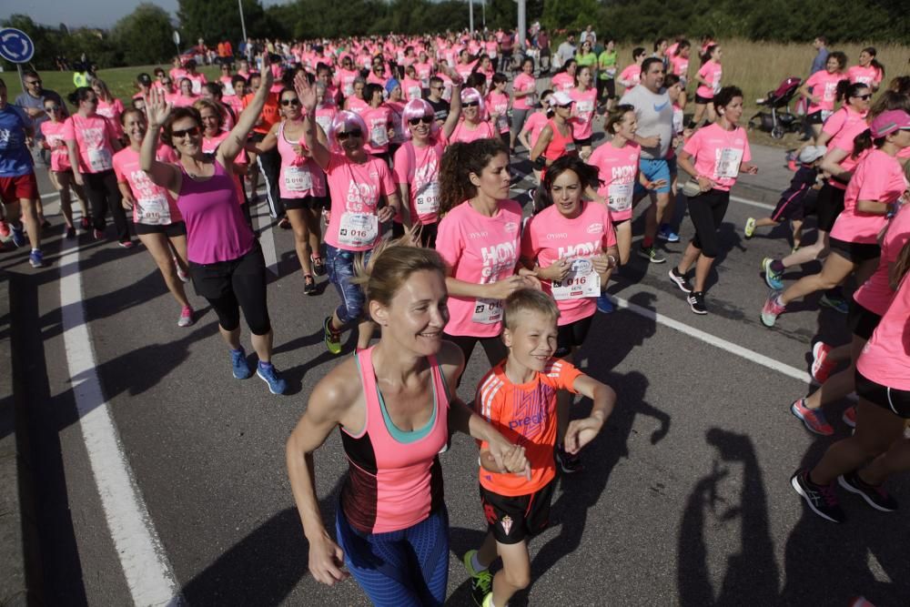
<instances>
[{"instance_id":1,"label":"black capri leggings of woman in purple tank top","mask_svg":"<svg viewBox=\"0 0 910 607\"><path fill-rule=\"evenodd\" d=\"M190 276L198 295L207 299L226 331L240 326L240 310L253 335L272 329L266 301L266 260L258 241L243 257L213 264L190 262Z\"/></svg>"}]
</instances>

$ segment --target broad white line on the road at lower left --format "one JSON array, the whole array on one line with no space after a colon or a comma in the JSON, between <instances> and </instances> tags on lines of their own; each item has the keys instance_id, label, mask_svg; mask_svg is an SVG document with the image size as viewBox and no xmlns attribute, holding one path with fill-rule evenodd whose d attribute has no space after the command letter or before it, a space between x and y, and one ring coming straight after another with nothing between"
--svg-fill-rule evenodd
<instances>
[{"instance_id":1,"label":"broad white line on the road at lower left","mask_svg":"<svg viewBox=\"0 0 910 607\"><path fill-rule=\"evenodd\" d=\"M79 249L65 249L60 268L63 337L79 427L126 585L136 605L182 605L174 572L148 514L96 371L95 349L82 304Z\"/></svg>"}]
</instances>

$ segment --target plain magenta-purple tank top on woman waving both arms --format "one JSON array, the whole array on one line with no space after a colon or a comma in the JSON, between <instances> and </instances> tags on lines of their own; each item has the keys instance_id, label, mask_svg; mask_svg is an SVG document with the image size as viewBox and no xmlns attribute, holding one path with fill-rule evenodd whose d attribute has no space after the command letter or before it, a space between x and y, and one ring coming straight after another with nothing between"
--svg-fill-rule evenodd
<instances>
[{"instance_id":1,"label":"plain magenta-purple tank top on woman waving both arms","mask_svg":"<svg viewBox=\"0 0 910 607\"><path fill-rule=\"evenodd\" d=\"M233 178L217 160L215 174L207 179L195 180L182 164L177 166L183 172L177 207L187 223L187 258L198 264L242 258L255 238L240 210Z\"/></svg>"}]
</instances>

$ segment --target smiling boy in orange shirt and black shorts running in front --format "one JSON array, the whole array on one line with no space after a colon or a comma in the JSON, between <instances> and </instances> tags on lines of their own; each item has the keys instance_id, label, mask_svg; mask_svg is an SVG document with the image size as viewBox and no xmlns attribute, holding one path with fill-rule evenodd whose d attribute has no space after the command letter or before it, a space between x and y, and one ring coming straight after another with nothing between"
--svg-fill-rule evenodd
<instances>
[{"instance_id":1,"label":"smiling boy in orange shirt and black shorts running in front","mask_svg":"<svg viewBox=\"0 0 910 607\"><path fill-rule=\"evenodd\" d=\"M509 357L480 380L474 406L494 428L524 447L530 478L509 474L480 444L480 501L489 532L480 550L469 551L464 564L471 595L480 607L505 607L512 594L531 582L526 538L543 531L550 518L556 478L556 392L567 389L593 401L591 416L573 420L565 449L577 453L601 431L616 393L571 363L554 359L559 310L539 290L523 288L504 302L502 340ZM497 556L502 570L489 572Z\"/></svg>"}]
</instances>

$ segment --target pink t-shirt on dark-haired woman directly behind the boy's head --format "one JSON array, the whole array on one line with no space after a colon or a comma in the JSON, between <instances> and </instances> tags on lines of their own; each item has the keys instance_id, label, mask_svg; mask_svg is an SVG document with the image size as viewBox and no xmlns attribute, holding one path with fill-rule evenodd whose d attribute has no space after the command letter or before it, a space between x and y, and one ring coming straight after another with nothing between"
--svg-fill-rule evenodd
<instances>
[{"instance_id":1,"label":"pink t-shirt on dark-haired woman directly behind the boy's head","mask_svg":"<svg viewBox=\"0 0 910 607\"><path fill-rule=\"evenodd\" d=\"M559 259L572 264L570 275L556 290L550 280L541 281L544 292L556 300L560 309L560 326L586 319L597 309L600 278L591 267L591 258L616 245L607 209L596 202L581 204L581 214L571 219L555 205L544 208L531 218L521 237L522 258L536 260L541 268L548 268ZM567 284L570 281L572 287ZM589 287L590 293L585 294L584 287Z\"/></svg>"}]
</instances>

